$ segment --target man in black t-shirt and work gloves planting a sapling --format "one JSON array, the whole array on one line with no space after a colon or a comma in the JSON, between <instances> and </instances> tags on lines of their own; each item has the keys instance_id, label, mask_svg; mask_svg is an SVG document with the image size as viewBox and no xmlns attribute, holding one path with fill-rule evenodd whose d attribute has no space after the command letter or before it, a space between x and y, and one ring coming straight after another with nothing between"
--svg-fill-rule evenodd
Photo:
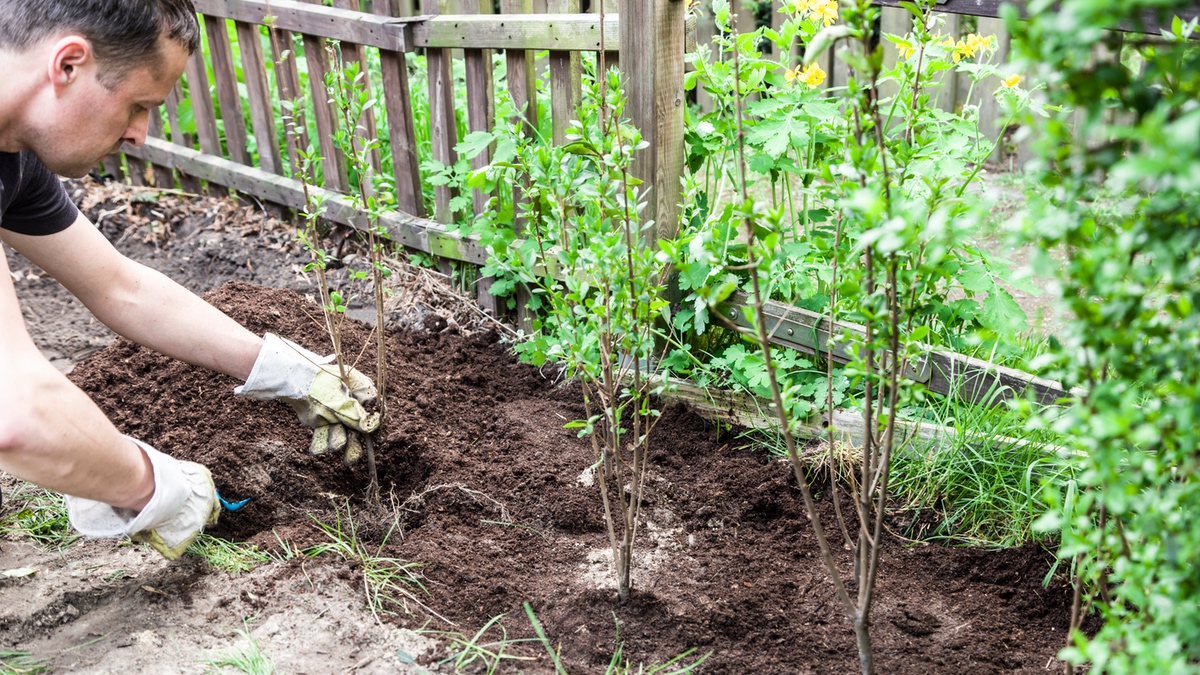
<instances>
[{"instance_id":1,"label":"man in black t-shirt and work gloves planting a sapling","mask_svg":"<svg viewBox=\"0 0 1200 675\"><path fill-rule=\"evenodd\" d=\"M166 276L120 255L54 175L82 177L145 139L199 46L191 0L0 0L0 239L106 325L167 356L283 399L316 429L313 452L347 449L378 416L371 381L346 387L320 359L258 338ZM64 492L72 525L130 536L174 560L220 510L209 471L122 436L25 330L0 270L0 470Z\"/></svg>"}]
</instances>

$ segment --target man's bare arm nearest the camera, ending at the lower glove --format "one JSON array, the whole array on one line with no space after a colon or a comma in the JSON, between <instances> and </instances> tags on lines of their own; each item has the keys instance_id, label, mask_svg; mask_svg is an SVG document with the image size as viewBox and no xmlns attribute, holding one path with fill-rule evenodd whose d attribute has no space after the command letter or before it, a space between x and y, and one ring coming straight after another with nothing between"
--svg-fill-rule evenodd
<instances>
[{"instance_id":1,"label":"man's bare arm nearest the camera, ending at the lower glove","mask_svg":"<svg viewBox=\"0 0 1200 675\"><path fill-rule=\"evenodd\" d=\"M59 372L25 330L0 257L0 470L44 488L140 509L150 461Z\"/></svg>"}]
</instances>

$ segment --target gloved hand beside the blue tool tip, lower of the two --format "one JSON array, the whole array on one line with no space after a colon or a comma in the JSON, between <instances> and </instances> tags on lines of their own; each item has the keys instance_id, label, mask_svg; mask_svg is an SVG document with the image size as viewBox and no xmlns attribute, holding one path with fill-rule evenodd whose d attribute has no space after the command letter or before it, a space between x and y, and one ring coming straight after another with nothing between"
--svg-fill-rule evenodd
<instances>
[{"instance_id":1,"label":"gloved hand beside the blue tool tip, lower of the two","mask_svg":"<svg viewBox=\"0 0 1200 675\"><path fill-rule=\"evenodd\" d=\"M127 436L126 436L127 437ZM128 437L127 437L128 438ZM130 438L150 458L155 490L140 512L67 496L71 525L88 537L128 536L175 560L204 527L217 524L221 504L212 476L204 466L180 461Z\"/></svg>"}]
</instances>

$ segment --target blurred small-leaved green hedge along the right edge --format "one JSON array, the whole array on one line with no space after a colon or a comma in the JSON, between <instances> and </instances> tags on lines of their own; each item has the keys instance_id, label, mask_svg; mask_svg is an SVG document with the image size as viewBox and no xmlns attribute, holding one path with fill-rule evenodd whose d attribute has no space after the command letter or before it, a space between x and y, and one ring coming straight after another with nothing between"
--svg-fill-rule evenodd
<instances>
[{"instance_id":1,"label":"blurred small-leaved green hedge along the right edge","mask_svg":"<svg viewBox=\"0 0 1200 675\"><path fill-rule=\"evenodd\" d=\"M1200 49L1175 17L1192 6L1038 0L1032 22L1008 17L1063 108L1034 135L1024 235L1064 258L1039 261L1073 316L1043 365L1086 389L1042 422L1080 454L1042 526L1104 620L1063 653L1093 673L1200 670ZM1169 28L1102 28L1148 17Z\"/></svg>"}]
</instances>

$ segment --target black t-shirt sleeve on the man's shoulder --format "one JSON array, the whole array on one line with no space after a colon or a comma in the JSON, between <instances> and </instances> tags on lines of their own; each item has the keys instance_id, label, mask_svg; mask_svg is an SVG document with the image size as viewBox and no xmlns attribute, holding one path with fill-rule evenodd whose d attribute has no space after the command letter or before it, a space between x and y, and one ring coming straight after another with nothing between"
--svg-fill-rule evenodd
<instances>
[{"instance_id":1,"label":"black t-shirt sleeve on the man's shoulder","mask_svg":"<svg viewBox=\"0 0 1200 675\"><path fill-rule=\"evenodd\" d=\"M29 150L0 153L0 228L54 234L79 217L59 177Z\"/></svg>"}]
</instances>

